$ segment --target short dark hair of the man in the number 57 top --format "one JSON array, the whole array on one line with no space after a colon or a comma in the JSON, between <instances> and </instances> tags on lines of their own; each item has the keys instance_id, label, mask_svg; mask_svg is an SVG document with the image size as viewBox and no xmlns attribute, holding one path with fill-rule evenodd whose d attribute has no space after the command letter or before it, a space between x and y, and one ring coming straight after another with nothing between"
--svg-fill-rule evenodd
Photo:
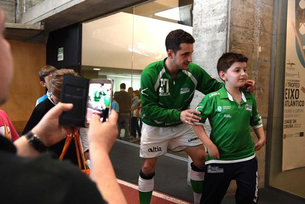
<instances>
[{"instance_id":1,"label":"short dark hair of the man in the number 57 top","mask_svg":"<svg viewBox=\"0 0 305 204\"><path fill-rule=\"evenodd\" d=\"M165 39L166 51L173 50L173 52L176 53L181 49L181 43L193 44L195 43L195 39L191 34L185 32L184 30L178 29L171 31Z\"/></svg>"}]
</instances>

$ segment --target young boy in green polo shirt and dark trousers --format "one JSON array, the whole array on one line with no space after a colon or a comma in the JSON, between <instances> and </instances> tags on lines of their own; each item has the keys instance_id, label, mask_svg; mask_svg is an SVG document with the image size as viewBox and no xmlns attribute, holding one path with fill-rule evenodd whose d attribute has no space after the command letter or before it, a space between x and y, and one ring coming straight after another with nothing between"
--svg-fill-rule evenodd
<instances>
[{"instance_id":1,"label":"young boy in green polo shirt and dark trousers","mask_svg":"<svg viewBox=\"0 0 305 204\"><path fill-rule=\"evenodd\" d=\"M255 97L240 87L248 78L248 58L242 54L224 53L217 62L219 76L225 86L206 95L196 114L202 119L194 122L196 135L207 148L203 192L200 203L221 203L231 180L236 180L236 203L257 203L258 177L255 151L265 142ZM209 119L210 138L203 123ZM258 141L253 143L250 126Z\"/></svg>"}]
</instances>

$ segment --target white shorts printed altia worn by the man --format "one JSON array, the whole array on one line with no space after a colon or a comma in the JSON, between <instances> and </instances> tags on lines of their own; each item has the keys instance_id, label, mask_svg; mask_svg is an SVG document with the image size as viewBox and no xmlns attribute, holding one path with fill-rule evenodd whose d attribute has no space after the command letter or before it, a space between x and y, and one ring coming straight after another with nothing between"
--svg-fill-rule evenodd
<instances>
[{"instance_id":1,"label":"white shorts printed altia worn by the man","mask_svg":"<svg viewBox=\"0 0 305 204\"><path fill-rule=\"evenodd\" d=\"M174 127L154 127L143 123L140 157L154 158L167 153L167 145L173 152L180 152L185 147L201 145L191 125L183 123Z\"/></svg>"}]
</instances>

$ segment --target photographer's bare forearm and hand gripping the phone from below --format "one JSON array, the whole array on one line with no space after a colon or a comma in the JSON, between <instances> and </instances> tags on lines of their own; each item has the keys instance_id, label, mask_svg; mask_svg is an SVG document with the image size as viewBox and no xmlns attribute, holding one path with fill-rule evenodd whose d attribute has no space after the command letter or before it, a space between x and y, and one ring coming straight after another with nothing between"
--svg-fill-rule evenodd
<instances>
[{"instance_id":1,"label":"photographer's bare forearm and hand gripping the phone from below","mask_svg":"<svg viewBox=\"0 0 305 204\"><path fill-rule=\"evenodd\" d=\"M117 137L117 117L115 111L111 114L107 122L100 122L100 117L94 115L91 118L88 140L90 148L90 178L93 180L108 203L127 203L123 192L116 180L109 158L109 151ZM113 194L115 192L115 195Z\"/></svg>"}]
</instances>

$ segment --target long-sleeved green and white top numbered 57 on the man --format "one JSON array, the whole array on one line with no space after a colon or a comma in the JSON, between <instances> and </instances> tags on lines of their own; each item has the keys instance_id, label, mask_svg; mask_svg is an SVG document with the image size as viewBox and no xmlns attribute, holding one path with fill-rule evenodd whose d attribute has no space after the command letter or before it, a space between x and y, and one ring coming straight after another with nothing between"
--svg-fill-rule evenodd
<instances>
[{"instance_id":1,"label":"long-sleeved green and white top numbered 57 on the man","mask_svg":"<svg viewBox=\"0 0 305 204\"><path fill-rule=\"evenodd\" d=\"M189 108L195 89L209 94L224 86L193 63L171 79L164 69L166 59L148 65L141 75L142 121L155 127L181 124L180 113Z\"/></svg>"}]
</instances>

